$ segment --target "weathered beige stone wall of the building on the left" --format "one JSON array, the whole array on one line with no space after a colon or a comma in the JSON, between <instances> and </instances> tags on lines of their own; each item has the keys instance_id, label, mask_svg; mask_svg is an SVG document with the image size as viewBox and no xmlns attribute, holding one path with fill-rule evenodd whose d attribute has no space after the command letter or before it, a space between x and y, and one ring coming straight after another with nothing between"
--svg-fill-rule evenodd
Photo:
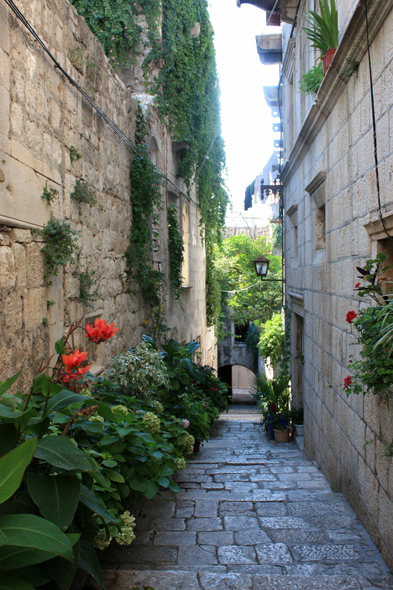
<instances>
[{"instance_id":1,"label":"weathered beige stone wall of the building on the left","mask_svg":"<svg viewBox=\"0 0 393 590\"><path fill-rule=\"evenodd\" d=\"M205 247L195 188L187 194L176 179L179 146L137 84L126 86L68 0L20 0L18 8L55 59L99 108L134 139L138 99L148 128L150 157L166 177L158 237L151 264L165 274L163 307L169 336L200 342L200 362L216 365L213 329L206 324ZM135 77L138 75L136 68ZM128 83L128 81L126 80ZM41 360L72 321L102 317L120 328L116 338L97 347L94 371L110 357L136 345L150 329L151 310L126 276L125 251L132 226L132 150L56 69L28 30L0 5L0 379L23 369L27 387ZM73 155L79 154L75 160ZM95 204L71 198L77 179L93 190ZM42 198L45 189L51 196ZM53 190L52 190L53 189ZM181 305L170 289L168 204L175 205L185 247ZM41 228L51 215L71 222L81 247L80 265L97 280L91 310L79 301L74 267L61 269L48 286ZM82 337L81 337L82 338ZM82 340L76 346L82 345ZM23 379L23 382L22 382Z\"/></svg>"}]
</instances>

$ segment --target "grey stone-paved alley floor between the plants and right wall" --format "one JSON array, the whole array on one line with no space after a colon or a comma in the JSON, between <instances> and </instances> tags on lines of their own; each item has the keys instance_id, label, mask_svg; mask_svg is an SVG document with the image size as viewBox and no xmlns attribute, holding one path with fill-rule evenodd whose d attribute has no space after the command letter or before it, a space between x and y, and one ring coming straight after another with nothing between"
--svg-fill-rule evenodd
<instances>
[{"instance_id":1,"label":"grey stone-paved alley floor between the plants and right wall","mask_svg":"<svg viewBox=\"0 0 393 590\"><path fill-rule=\"evenodd\" d=\"M103 554L108 590L372 590L393 578L342 494L293 443L232 406L177 480Z\"/></svg>"}]
</instances>

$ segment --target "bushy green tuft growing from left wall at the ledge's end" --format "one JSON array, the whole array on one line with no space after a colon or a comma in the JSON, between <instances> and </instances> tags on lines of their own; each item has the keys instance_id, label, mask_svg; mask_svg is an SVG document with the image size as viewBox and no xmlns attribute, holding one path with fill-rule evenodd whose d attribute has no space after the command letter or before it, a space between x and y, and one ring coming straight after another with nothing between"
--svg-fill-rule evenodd
<instances>
[{"instance_id":1,"label":"bushy green tuft growing from left wall at the ledge's end","mask_svg":"<svg viewBox=\"0 0 393 590\"><path fill-rule=\"evenodd\" d=\"M46 268L44 279L48 285L51 285L49 277L57 276L59 268L73 262L74 254L79 252L76 241L78 232L71 228L69 222L52 216L42 229L33 229L32 233L45 240L41 248Z\"/></svg>"}]
</instances>

